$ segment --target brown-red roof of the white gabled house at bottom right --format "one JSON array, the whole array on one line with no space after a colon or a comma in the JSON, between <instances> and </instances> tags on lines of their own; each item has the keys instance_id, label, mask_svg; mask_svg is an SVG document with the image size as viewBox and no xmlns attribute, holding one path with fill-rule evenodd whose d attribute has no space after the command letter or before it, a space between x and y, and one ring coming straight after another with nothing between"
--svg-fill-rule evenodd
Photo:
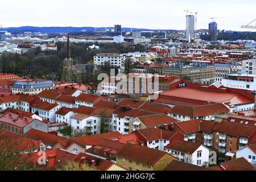
<instances>
[{"instance_id":1,"label":"brown-red roof of the white gabled house at bottom right","mask_svg":"<svg viewBox=\"0 0 256 182\"><path fill-rule=\"evenodd\" d=\"M185 140L174 140L170 144L167 144L166 147L171 150L184 152L185 154L193 154L201 146L201 143L187 142Z\"/></svg>"}]
</instances>

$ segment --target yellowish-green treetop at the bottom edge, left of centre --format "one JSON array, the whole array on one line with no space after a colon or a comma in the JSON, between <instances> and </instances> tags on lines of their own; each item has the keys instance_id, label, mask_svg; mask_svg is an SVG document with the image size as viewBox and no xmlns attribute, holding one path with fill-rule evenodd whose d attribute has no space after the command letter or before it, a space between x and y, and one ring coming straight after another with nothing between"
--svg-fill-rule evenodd
<instances>
[{"instance_id":1,"label":"yellowish-green treetop at the bottom edge, left of centre","mask_svg":"<svg viewBox=\"0 0 256 182\"><path fill-rule=\"evenodd\" d=\"M57 171L97 171L97 169L93 166L89 166L88 164L80 164L74 161L69 161L67 164L57 169Z\"/></svg>"}]
</instances>

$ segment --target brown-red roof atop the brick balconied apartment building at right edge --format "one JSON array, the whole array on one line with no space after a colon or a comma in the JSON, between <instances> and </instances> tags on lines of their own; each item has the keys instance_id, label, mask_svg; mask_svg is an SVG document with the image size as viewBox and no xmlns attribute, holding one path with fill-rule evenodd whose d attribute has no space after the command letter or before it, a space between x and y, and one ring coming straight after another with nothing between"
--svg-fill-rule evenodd
<instances>
[{"instance_id":1,"label":"brown-red roof atop the brick balconied apartment building at right edge","mask_svg":"<svg viewBox=\"0 0 256 182\"><path fill-rule=\"evenodd\" d=\"M232 137L249 137L256 130L256 126L243 125L234 122L220 122L213 131L225 133Z\"/></svg>"}]
</instances>

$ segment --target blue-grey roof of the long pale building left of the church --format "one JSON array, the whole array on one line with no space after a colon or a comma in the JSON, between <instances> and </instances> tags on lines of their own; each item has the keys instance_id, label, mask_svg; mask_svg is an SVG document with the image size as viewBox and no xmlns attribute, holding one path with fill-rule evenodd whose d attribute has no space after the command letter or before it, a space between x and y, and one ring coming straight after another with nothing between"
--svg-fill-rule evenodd
<instances>
[{"instance_id":1,"label":"blue-grey roof of the long pale building left of the church","mask_svg":"<svg viewBox=\"0 0 256 182\"><path fill-rule=\"evenodd\" d=\"M23 81L15 81L13 84L13 88L19 89L30 89L30 88L46 88L56 86L53 81L31 81L31 82L23 82Z\"/></svg>"}]
</instances>

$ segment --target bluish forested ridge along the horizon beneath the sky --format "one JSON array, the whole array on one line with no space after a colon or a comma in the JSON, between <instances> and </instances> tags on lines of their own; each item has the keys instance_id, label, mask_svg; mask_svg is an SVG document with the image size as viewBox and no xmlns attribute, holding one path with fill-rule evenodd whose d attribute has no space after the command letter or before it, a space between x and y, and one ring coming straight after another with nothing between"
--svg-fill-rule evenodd
<instances>
[{"instance_id":1,"label":"bluish forested ridge along the horizon beneath the sky","mask_svg":"<svg viewBox=\"0 0 256 182\"><path fill-rule=\"evenodd\" d=\"M114 27L97 27L97 30L113 29ZM80 32L82 30L94 31L95 27L33 27L33 26L23 26L23 27L9 27L0 28L0 30L7 30L13 34L19 34L23 32L42 32L42 33L67 33L67 32ZM131 31L131 28L124 27L123 31ZM144 31L172 31L177 32L180 30L164 30L164 29L146 29L146 28L133 28L133 31L144 30Z\"/></svg>"}]
</instances>

